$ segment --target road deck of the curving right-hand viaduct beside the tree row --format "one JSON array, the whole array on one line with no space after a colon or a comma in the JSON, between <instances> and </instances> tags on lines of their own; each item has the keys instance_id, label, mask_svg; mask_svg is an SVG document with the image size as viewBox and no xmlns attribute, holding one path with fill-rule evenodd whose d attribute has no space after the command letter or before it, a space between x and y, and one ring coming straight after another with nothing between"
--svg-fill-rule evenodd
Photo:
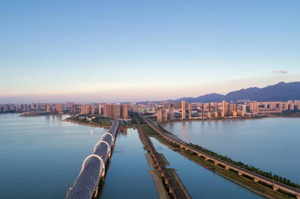
<instances>
[{"instance_id":1,"label":"road deck of the curving right-hand viaduct beside the tree row","mask_svg":"<svg viewBox=\"0 0 300 199\"><path fill-rule=\"evenodd\" d=\"M178 137L175 137L175 136L173 136L173 135L171 135L171 134L163 133L162 131L160 131L160 130L157 128L157 125L153 125L153 122L150 121L148 118L142 116L141 114L138 114L138 115L139 115L140 117L142 117L142 118L145 120L145 122L146 122L150 127L152 127L152 129L155 130L157 133L159 133L159 134L162 135L163 137L167 137L168 139L172 140L174 143L183 146L185 149L188 149L188 150L190 150L190 151L192 151L192 152L194 152L194 153L196 153L196 154L198 154L198 155L201 155L201 156L203 156L203 157L205 157L205 158L208 158L208 159L214 161L215 163L218 163L218 164L223 165L224 167L228 167L228 168L233 169L233 170L235 170L235 171L241 172L241 173L243 173L244 175L247 175L247 176L249 176L249 177L255 178L255 179L257 179L257 180L259 180L259 181L261 181L261 182L264 182L264 183L266 183L266 184L268 184L268 185L275 186L276 188L278 188L278 189L280 189L280 190L282 190L282 191L285 191L285 192L287 192L287 193L289 193L289 194L293 194L293 195L295 195L298 199L300 199L300 190L299 190L299 189L296 189L296 188L287 186L287 185L282 184L282 183L280 183L280 182L274 181L273 179L269 179L269 178L266 178L266 177L261 176L261 175L259 175L259 174L256 174L256 173L253 173L253 172L251 172L251 171L248 171L248 170L246 170L246 169L240 168L240 167L238 167L238 166L236 166L236 165L233 165L233 164L231 164L231 163L228 163L228 162L226 162L226 161L223 161L223 160L221 160L221 159L218 159L218 158L216 158L216 157L213 157L213 156L211 156L211 155L209 155L209 154L206 154L206 153L204 153L204 152L202 152L202 151L199 151L199 150L197 150L197 149L195 149L195 148L193 148L193 147L190 147L190 146L186 145L186 142L184 142L183 140L179 139ZM174 138L175 138L175 139L174 139Z\"/></svg>"}]
</instances>

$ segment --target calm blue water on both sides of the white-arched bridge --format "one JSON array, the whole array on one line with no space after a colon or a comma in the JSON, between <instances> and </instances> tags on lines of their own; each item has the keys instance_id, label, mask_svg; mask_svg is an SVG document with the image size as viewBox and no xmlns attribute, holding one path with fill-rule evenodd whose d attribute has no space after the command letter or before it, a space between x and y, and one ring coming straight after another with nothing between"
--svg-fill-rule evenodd
<instances>
[{"instance_id":1,"label":"calm blue water on both sides of the white-arched bridge","mask_svg":"<svg viewBox=\"0 0 300 199\"><path fill-rule=\"evenodd\" d=\"M107 132L62 122L66 117L0 114L1 199L65 197L82 161ZM101 199L158 198L144 153L135 130L118 133Z\"/></svg>"}]
</instances>

